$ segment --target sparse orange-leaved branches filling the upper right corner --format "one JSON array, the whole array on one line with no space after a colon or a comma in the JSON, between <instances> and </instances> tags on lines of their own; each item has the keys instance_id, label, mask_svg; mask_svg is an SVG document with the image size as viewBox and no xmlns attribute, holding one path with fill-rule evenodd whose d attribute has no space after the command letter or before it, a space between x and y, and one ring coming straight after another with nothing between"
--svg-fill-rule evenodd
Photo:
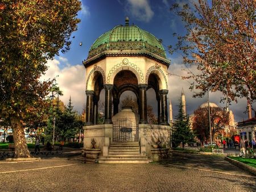
<instances>
[{"instance_id":1,"label":"sparse orange-leaved branches filling the upper right corner","mask_svg":"<svg viewBox=\"0 0 256 192\"><path fill-rule=\"evenodd\" d=\"M256 99L256 1L199 0L171 10L185 23L187 33L177 36L170 53L181 52L185 65L196 65L201 73L189 71L196 96L221 91L230 101ZM174 34L176 35L176 34Z\"/></svg>"}]
</instances>

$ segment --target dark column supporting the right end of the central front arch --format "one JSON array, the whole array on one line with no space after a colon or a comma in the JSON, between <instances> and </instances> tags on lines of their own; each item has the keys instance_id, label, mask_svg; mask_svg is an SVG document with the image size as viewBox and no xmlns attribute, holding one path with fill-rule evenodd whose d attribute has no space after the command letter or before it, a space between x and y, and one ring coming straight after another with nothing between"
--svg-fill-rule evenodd
<instances>
[{"instance_id":1,"label":"dark column supporting the right end of the central front arch","mask_svg":"<svg viewBox=\"0 0 256 192\"><path fill-rule=\"evenodd\" d=\"M147 84L139 84L139 123L147 123Z\"/></svg>"}]
</instances>

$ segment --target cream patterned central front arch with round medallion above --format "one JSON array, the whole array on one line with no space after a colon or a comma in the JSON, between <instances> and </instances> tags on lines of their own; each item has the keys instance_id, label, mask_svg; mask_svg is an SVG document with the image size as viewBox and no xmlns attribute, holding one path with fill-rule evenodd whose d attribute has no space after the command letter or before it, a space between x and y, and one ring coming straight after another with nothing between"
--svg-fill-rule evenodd
<instances>
[{"instance_id":1,"label":"cream patterned central front arch with round medallion above","mask_svg":"<svg viewBox=\"0 0 256 192\"><path fill-rule=\"evenodd\" d=\"M106 78L106 83L107 84L112 83L112 80L114 79L112 77L112 75L116 71L119 72L120 71L119 69L121 67L122 67L122 69L125 68L127 70L130 70L130 68L131 68L131 72L135 72L134 74L138 78L138 82L139 83L144 83L144 76L143 76L142 70L137 65L132 64L131 62L129 62L128 59L123 59L122 62L120 62L119 64L114 65L113 68L109 70L108 77Z\"/></svg>"}]
</instances>

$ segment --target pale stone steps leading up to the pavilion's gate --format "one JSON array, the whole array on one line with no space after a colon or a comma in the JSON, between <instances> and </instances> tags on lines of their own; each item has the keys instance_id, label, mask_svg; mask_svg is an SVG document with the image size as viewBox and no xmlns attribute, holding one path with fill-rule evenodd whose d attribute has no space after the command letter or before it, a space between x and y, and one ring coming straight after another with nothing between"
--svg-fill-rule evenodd
<instances>
[{"instance_id":1,"label":"pale stone steps leading up to the pavilion's gate","mask_svg":"<svg viewBox=\"0 0 256 192\"><path fill-rule=\"evenodd\" d=\"M99 163L148 163L151 158L142 156L139 152L139 142L112 142L108 156L99 156Z\"/></svg>"}]
</instances>

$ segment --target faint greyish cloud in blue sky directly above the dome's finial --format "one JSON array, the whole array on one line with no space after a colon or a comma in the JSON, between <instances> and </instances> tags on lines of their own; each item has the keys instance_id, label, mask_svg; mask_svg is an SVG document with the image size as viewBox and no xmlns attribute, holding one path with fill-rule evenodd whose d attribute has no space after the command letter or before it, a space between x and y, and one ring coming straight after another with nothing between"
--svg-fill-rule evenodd
<instances>
[{"instance_id":1,"label":"faint greyish cloud in blue sky directly above the dome's finial","mask_svg":"<svg viewBox=\"0 0 256 192\"><path fill-rule=\"evenodd\" d=\"M137 19L144 22L149 22L154 16L148 0L127 0L127 12Z\"/></svg>"}]
</instances>

